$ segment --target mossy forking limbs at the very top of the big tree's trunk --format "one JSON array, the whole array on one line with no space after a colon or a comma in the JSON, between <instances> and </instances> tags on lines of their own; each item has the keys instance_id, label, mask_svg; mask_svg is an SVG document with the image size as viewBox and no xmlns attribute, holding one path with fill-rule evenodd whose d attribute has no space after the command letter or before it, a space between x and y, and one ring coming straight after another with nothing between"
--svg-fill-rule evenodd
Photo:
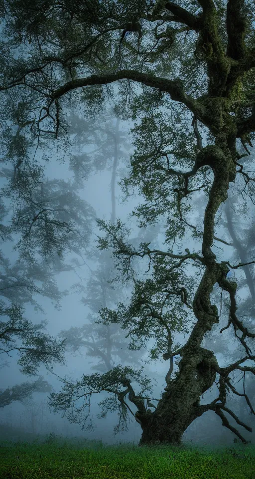
<instances>
[{"instance_id":1,"label":"mossy forking limbs at the very top of the big tree's trunk","mask_svg":"<svg viewBox=\"0 0 255 479\"><path fill-rule=\"evenodd\" d=\"M245 45L246 19L242 14L244 0L229 1L227 5L227 56L217 26L217 9L212 0L200 0L202 14L193 15L175 2L158 2L155 14L163 8L171 11L176 18L172 21L185 23L189 28L199 31L196 51L202 53L208 66L210 78L208 93L210 96L230 94L238 78L247 69L249 54L250 63L254 62L254 52L247 52ZM156 18L155 18L156 19ZM169 18L170 20L170 18ZM171 20L170 20L171 21ZM239 63L240 60L240 63ZM250 66L251 68L251 66Z\"/></svg>"}]
</instances>

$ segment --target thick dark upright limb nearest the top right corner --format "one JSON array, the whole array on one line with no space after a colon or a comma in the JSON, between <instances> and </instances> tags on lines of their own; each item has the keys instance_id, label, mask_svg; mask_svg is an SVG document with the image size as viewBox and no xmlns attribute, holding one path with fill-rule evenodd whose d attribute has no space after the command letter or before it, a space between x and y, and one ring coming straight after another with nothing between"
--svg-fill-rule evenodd
<instances>
[{"instance_id":1,"label":"thick dark upright limb nearest the top right corner","mask_svg":"<svg viewBox=\"0 0 255 479\"><path fill-rule=\"evenodd\" d=\"M227 3L227 55L234 60L245 58L247 51L245 44L247 20L243 13L244 4L244 0L231 0Z\"/></svg>"}]
</instances>

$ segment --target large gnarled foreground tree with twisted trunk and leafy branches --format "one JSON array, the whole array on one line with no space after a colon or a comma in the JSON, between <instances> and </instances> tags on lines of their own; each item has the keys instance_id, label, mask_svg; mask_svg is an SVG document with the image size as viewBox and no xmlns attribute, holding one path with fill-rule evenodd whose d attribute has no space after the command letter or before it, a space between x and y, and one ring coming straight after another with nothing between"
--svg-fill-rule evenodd
<instances>
[{"instance_id":1,"label":"large gnarled foreground tree with twisted trunk and leafy branches","mask_svg":"<svg viewBox=\"0 0 255 479\"><path fill-rule=\"evenodd\" d=\"M139 226L165 218L164 250L149 242L128 241L129 231L119 219L115 224L98 220L106 235L99 248L112 247L120 274L134 283L129 305L120 302L116 310L102 308L101 320L119 324L131 342L140 341L140 347L154 338L151 361L160 356L169 361L166 387L157 405L152 406L150 382L142 370L118 365L66 384L60 394L51 395L52 406L85 424L91 396L107 391L105 414L119 405L120 420L133 415L141 426L141 444L180 444L188 426L211 410L246 443L226 413L247 431L251 428L227 408L226 400L230 388L237 394L232 384L236 370L255 373L251 365L255 333L239 318L237 282L227 275L255 258L237 264L221 259L215 245L222 240L215 229L237 176L254 198L254 179L237 142L246 149L252 146L255 131L252 2L6 0L1 15L5 135L10 97L13 122L24 142L31 142L30 148L36 141L46 144L47 138L66 146L66 103L80 102L84 115L92 108L97 115L107 95L118 98L116 113L120 118L129 115L134 122L135 150L123 189L127 197L133 188L143 196L134 213ZM204 216L202 239L195 235L198 250L190 251L185 235L195 232L188 215L198 191L206 200L199 206ZM238 192L242 201L242 189ZM135 278L133 268L133 260L141 257L149 263L144 280ZM192 276L188 265L195 269ZM228 321L220 332L233 327L242 347L238 359L226 367L220 367L214 352L203 347L205 335L220 320L220 304L212 304L210 297L214 286L229 296ZM185 344L174 342L175 332L188 334ZM179 370L172 377L178 354ZM249 365L244 365L247 360ZM200 405L200 397L216 378L218 396ZM138 388L133 387L135 382ZM248 396L246 401L255 414Z\"/></svg>"}]
</instances>

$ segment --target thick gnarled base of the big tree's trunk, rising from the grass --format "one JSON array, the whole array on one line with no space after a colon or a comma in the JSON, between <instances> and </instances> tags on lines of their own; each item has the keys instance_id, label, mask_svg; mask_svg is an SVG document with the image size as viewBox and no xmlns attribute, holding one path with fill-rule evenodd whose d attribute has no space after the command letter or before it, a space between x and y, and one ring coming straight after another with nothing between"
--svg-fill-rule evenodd
<instances>
[{"instance_id":1,"label":"thick gnarled base of the big tree's trunk, rising from the grass","mask_svg":"<svg viewBox=\"0 0 255 479\"><path fill-rule=\"evenodd\" d=\"M200 347L192 355L185 351L180 372L165 388L156 410L135 414L142 428L140 445L181 445L183 433L204 412L199 407L200 396L213 385L217 366L212 351Z\"/></svg>"}]
</instances>

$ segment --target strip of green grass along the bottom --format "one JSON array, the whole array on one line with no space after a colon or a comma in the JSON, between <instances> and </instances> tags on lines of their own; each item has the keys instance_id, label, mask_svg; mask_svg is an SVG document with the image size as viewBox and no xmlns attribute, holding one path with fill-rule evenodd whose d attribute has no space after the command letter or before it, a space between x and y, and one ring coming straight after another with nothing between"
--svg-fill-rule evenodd
<instances>
[{"instance_id":1,"label":"strip of green grass along the bottom","mask_svg":"<svg viewBox=\"0 0 255 479\"><path fill-rule=\"evenodd\" d=\"M104 445L49 436L0 442L1 479L254 479L255 447Z\"/></svg>"}]
</instances>

